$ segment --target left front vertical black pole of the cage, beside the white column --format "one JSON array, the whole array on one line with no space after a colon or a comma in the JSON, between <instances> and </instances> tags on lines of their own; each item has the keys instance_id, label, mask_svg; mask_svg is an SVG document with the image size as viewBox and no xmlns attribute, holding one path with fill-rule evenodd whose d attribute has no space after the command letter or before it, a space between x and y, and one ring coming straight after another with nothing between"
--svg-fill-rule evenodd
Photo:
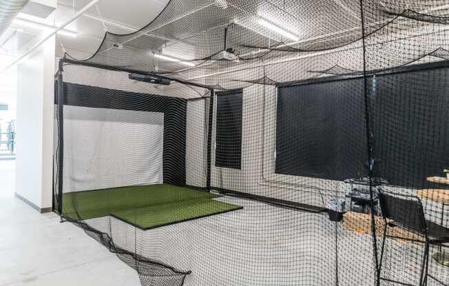
<instances>
[{"instance_id":1,"label":"left front vertical black pole of the cage, beside the white column","mask_svg":"<svg viewBox=\"0 0 449 286\"><path fill-rule=\"evenodd\" d=\"M63 214L63 163L64 163L64 83L63 83L63 60L59 60L58 80L58 107L56 118L58 122L58 146L57 146L57 180L58 180L58 212Z\"/></svg>"}]
</instances>

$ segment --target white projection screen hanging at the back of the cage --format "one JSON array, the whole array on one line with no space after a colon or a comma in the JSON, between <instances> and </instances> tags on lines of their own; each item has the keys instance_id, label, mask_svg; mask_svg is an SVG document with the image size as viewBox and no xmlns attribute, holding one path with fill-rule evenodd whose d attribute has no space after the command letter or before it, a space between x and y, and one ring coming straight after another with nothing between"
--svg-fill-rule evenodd
<instances>
[{"instance_id":1,"label":"white projection screen hanging at the back of the cage","mask_svg":"<svg viewBox=\"0 0 449 286\"><path fill-rule=\"evenodd\" d=\"M164 113L64 107L63 192L163 183Z\"/></svg>"}]
</instances>

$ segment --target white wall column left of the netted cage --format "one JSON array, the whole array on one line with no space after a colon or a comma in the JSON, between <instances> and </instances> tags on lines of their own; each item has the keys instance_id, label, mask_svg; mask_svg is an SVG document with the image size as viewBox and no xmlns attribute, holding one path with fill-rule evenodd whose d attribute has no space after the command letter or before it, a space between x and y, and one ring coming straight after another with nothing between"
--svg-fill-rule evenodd
<instances>
[{"instance_id":1,"label":"white wall column left of the netted cage","mask_svg":"<svg viewBox=\"0 0 449 286\"><path fill-rule=\"evenodd\" d=\"M52 37L17 67L16 193L52 207L54 45Z\"/></svg>"}]
</instances>

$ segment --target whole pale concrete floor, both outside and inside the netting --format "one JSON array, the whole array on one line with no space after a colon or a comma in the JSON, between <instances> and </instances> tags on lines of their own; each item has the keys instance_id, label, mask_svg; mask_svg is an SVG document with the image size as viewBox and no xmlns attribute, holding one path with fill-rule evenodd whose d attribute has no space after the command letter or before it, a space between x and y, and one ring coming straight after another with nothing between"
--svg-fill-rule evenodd
<instances>
[{"instance_id":1,"label":"whole pale concrete floor, both outside and inside the netting","mask_svg":"<svg viewBox=\"0 0 449 286\"><path fill-rule=\"evenodd\" d=\"M59 223L54 213L39 214L15 198L14 161L0 160L0 186L0 286L140 285L135 270L81 228ZM341 225L336 229L322 214L220 200L244 209L149 231L109 217L88 223L105 232L112 229L122 248L191 270L186 286L335 285L337 231L340 285L374 285L370 236ZM416 281L421 248L390 241L384 274ZM430 261L430 272L449 282L447 267Z\"/></svg>"}]
</instances>

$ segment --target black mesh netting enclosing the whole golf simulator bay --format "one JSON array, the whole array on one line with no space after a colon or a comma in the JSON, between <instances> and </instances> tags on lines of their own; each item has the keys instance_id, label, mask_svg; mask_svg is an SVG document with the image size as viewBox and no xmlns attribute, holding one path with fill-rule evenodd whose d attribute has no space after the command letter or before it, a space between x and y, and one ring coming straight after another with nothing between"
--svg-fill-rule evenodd
<instances>
[{"instance_id":1,"label":"black mesh netting enclosing the whole golf simulator bay","mask_svg":"<svg viewBox=\"0 0 449 286\"><path fill-rule=\"evenodd\" d=\"M55 208L145 286L419 285L424 236L391 228L380 263L379 191L448 227L448 13L171 0L61 60ZM428 285L449 284L445 250Z\"/></svg>"}]
</instances>

